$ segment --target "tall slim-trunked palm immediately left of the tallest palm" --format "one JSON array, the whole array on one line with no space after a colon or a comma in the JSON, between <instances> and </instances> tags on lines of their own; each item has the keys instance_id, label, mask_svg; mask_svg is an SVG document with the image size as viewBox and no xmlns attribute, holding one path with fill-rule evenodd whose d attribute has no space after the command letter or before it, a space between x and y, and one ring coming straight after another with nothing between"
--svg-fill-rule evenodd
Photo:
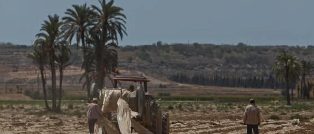
<instances>
[{"instance_id":1,"label":"tall slim-trunked palm immediately left of the tallest palm","mask_svg":"<svg viewBox=\"0 0 314 134\"><path fill-rule=\"evenodd\" d=\"M64 25L62 27L63 30L66 31L65 38L68 39L70 42L72 41L73 37L76 36L76 44L80 43L82 41L82 48L83 48L83 58L84 63L82 68L84 68L84 76L86 80L86 90L87 90L87 97L90 96L90 80L89 80L89 64L87 63L86 59L86 49L87 46L85 45L86 35L87 35L87 29L91 25L91 17L92 13L89 7L86 6L86 3L84 5L72 5L73 9L67 9L65 12L66 17L63 17L62 20L64 20ZM85 85L85 84L84 84ZM84 88L83 85L83 88Z\"/></svg>"}]
</instances>

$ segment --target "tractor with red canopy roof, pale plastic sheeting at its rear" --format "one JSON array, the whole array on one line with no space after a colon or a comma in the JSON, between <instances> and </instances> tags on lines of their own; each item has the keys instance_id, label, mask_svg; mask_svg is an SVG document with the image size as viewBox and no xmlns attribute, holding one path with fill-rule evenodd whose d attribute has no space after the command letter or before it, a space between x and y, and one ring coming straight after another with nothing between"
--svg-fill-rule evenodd
<instances>
[{"instance_id":1,"label":"tractor with red canopy roof, pale plastic sheeting at its rear","mask_svg":"<svg viewBox=\"0 0 314 134\"><path fill-rule=\"evenodd\" d=\"M169 114L162 111L154 97L147 92L149 79L142 75L116 75L113 82L113 88L98 91L101 103L99 105L106 121L105 125L101 126L105 128L103 133L121 133L117 121L117 101L123 98L129 108L138 113L138 116L131 119L132 131L135 130L139 134L169 134ZM122 89L121 83L127 82L137 84L134 90Z\"/></svg>"}]
</instances>

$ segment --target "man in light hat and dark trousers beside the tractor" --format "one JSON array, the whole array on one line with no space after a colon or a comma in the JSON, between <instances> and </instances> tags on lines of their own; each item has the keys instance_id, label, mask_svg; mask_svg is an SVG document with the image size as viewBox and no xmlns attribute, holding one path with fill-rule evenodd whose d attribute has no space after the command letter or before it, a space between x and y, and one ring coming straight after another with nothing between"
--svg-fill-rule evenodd
<instances>
[{"instance_id":1,"label":"man in light hat and dark trousers beside the tractor","mask_svg":"<svg viewBox=\"0 0 314 134\"><path fill-rule=\"evenodd\" d=\"M98 106L98 98L93 98L93 103L88 104L86 108L86 117L88 120L89 133L94 134L94 126L98 119L100 119L101 110Z\"/></svg>"}]
</instances>

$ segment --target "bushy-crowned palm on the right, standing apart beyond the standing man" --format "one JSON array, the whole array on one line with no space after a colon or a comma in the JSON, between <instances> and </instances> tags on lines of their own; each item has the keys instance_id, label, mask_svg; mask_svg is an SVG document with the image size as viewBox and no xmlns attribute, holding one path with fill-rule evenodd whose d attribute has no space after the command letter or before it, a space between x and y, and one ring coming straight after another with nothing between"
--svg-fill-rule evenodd
<instances>
[{"instance_id":1,"label":"bushy-crowned palm on the right, standing apart beyond the standing man","mask_svg":"<svg viewBox=\"0 0 314 134\"><path fill-rule=\"evenodd\" d=\"M287 105L290 103L290 85L299 78L301 65L292 54L282 53L277 55L272 70L277 73L278 80L285 80L287 92Z\"/></svg>"}]
</instances>

